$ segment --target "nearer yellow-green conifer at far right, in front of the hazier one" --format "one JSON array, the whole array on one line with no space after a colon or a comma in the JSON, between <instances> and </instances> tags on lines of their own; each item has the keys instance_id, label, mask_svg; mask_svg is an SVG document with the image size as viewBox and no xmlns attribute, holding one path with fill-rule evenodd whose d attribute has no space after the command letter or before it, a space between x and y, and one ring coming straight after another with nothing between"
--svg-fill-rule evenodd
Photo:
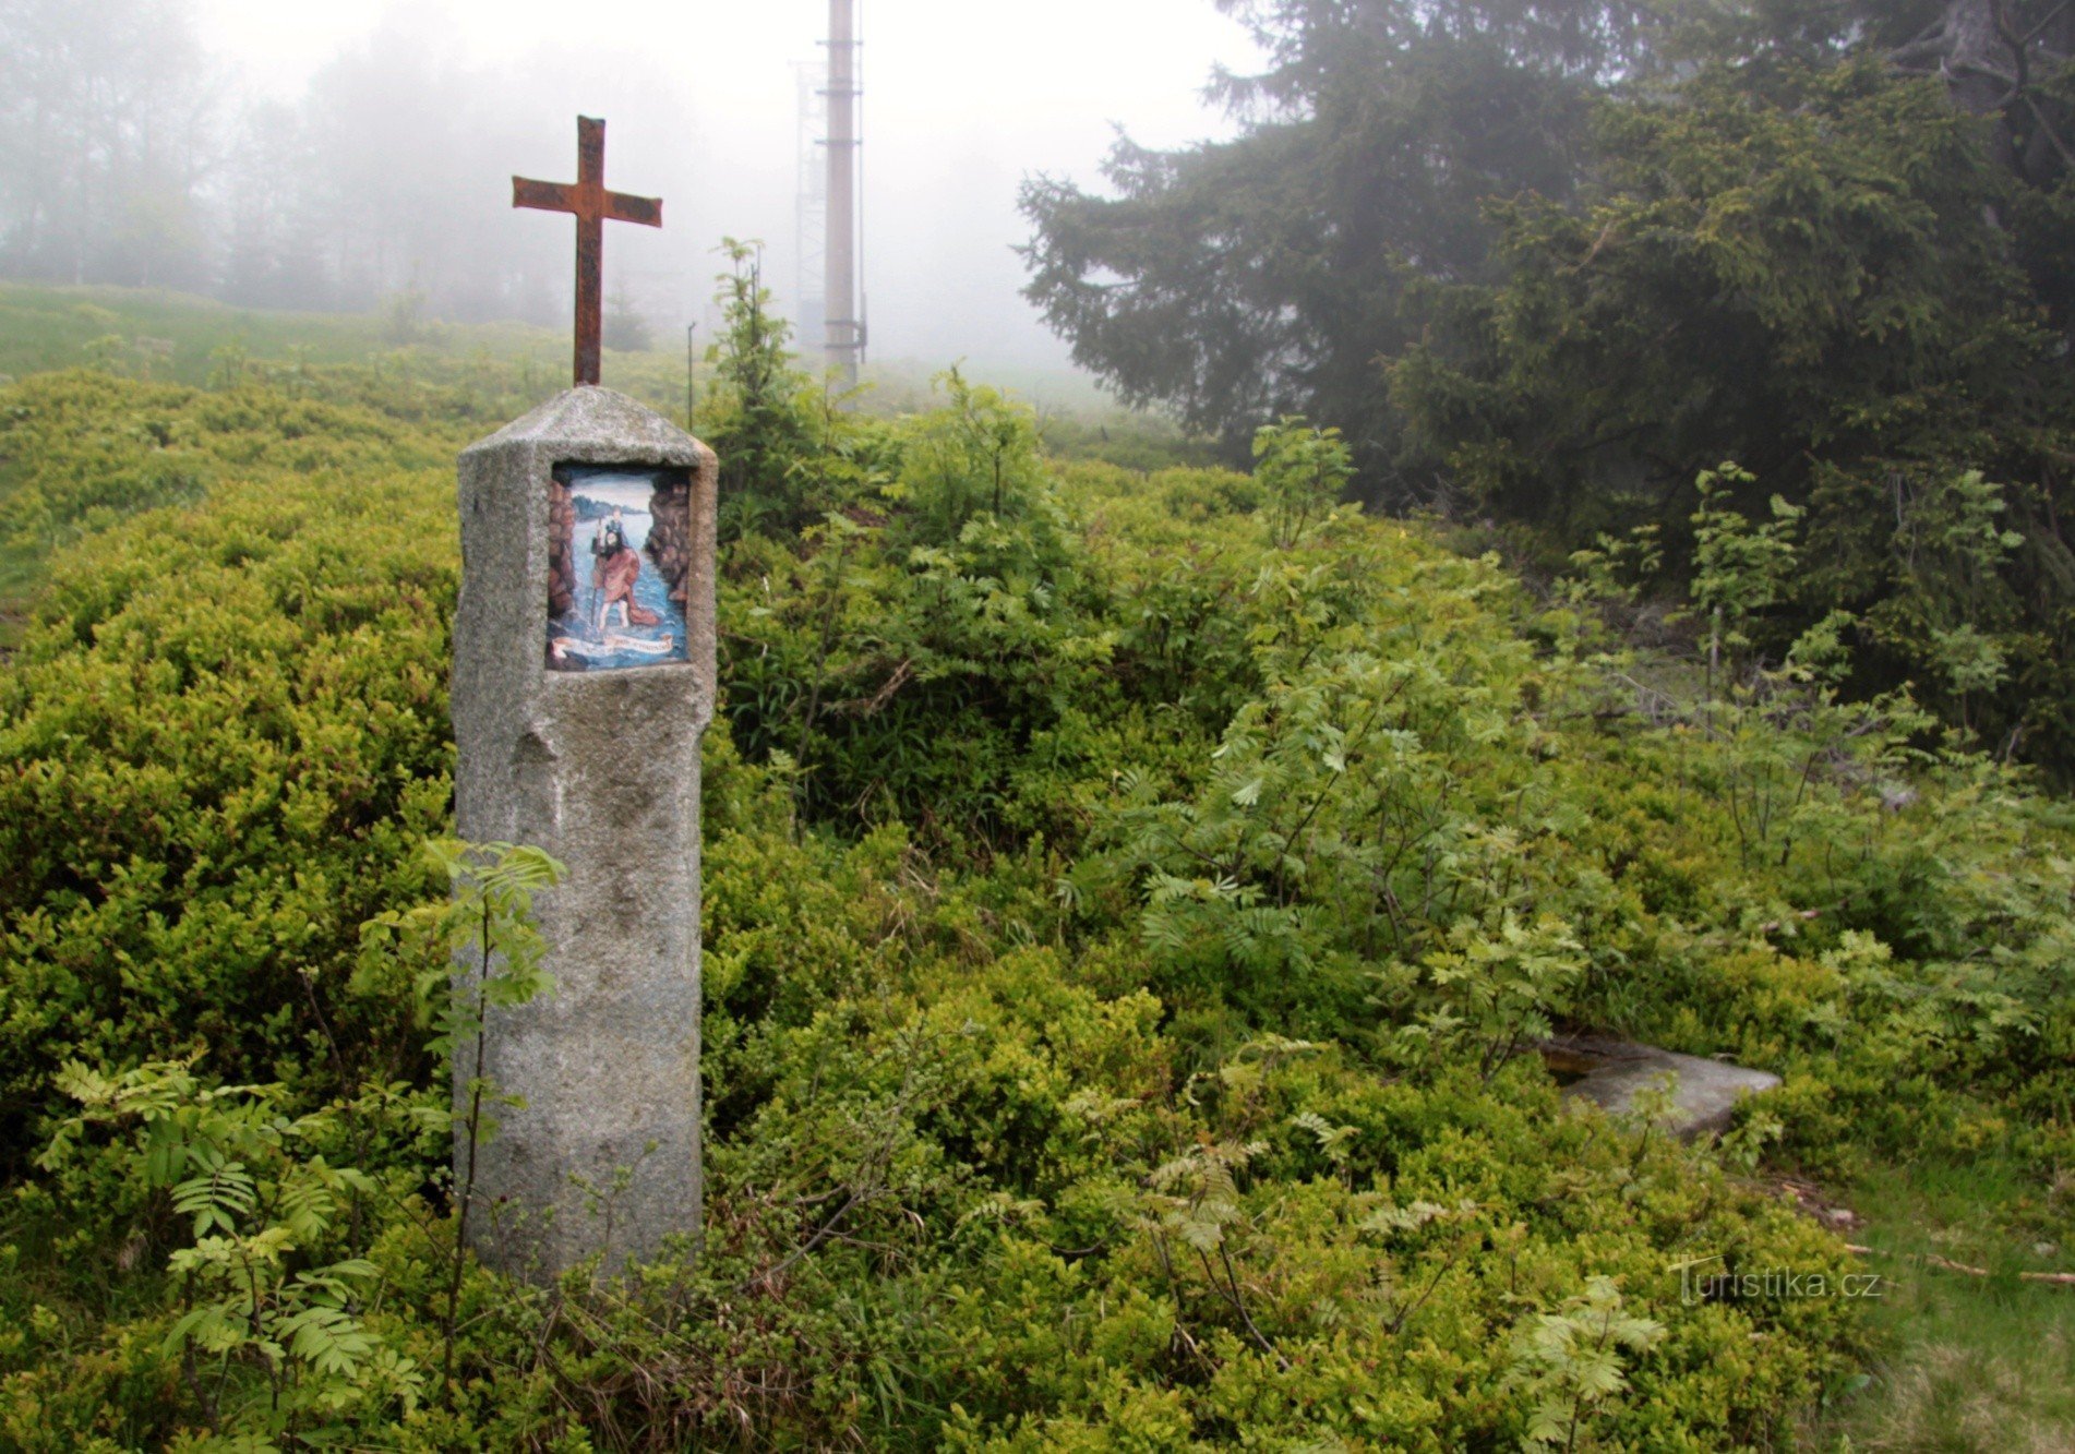
<instances>
[{"instance_id":1,"label":"nearer yellow-green conifer at far right, in front of the hazier one","mask_svg":"<svg viewBox=\"0 0 2075 1454\"><path fill-rule=\"evenodd\" d=\"M1720 490L1693 527L1762 506L1702 473L1737 458L1803 512L1751 645L1778 660L1849 612L1853 693L1909 680L2058 767L2069 375L1996 222L2011 191L1938 87L1874 60L1710 66L1606 104L1583 205L1494 201L1504 282L1436 292L1392 365L1409 458L1558 539L1654 516L1695 602L1718 583L1668 506L1695 475ZM1735 647L1726 618L1708 631Z\"/></svg>"}]
</instances>

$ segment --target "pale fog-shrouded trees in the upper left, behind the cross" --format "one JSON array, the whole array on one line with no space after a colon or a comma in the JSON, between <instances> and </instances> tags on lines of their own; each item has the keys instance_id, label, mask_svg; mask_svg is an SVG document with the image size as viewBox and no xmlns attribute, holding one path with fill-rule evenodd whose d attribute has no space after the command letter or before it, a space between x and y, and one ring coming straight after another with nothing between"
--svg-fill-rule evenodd
<instances>
[{"instance_id":1,"label":"pale fog-shrouded trees in the upper left, behind the cross","mask_svg":"<svg viewBox=\"0 0 2075 1454\"><path fill-rule=\"evenodd\" d=\"M554 321L564 230L483 226L515 158L542 156L546 64L452 60L382 25L280 100L203 46L187 0L8 0L0 276ZM670 93L639 87L618 139L656 191L689 131Z\"/></svg>"}]
</instances>

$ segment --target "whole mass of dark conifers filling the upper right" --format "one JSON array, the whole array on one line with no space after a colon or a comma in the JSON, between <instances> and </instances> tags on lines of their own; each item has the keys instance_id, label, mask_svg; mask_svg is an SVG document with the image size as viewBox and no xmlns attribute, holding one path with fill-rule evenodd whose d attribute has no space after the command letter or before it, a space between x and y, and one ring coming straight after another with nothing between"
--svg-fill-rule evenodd
<instances>
[{"instance_id":1,"label":"whole mass of dark conifers filling the upper right","mask_svg":"<svg viewBox=\"0 0 2075 1454\"><path fill-rule=\"evenodd\" d=\"M1803 516L1774 599L1720 624L1704 602L1714 658L1778 662L1847 612L1841 689L1911 684L2071 772L2075 15L1224 8L1266 52L1218 77L1235 139L1120 141L1110 195L1025 187L1027 295L1077 363L1233 460L1264 419L1336 425L1365 498L1482 521L1523 558L1656 527L1693 562L1699 516L1766 504L1724 479L1695 516L1695 475L1741 460ZM1982 481L2004 504L1986 535L1959 525ZM1662 624L1639 579L1608 583ZM1739 610L1770 631L1731 641Z\"/></svg>"}]
</instances>

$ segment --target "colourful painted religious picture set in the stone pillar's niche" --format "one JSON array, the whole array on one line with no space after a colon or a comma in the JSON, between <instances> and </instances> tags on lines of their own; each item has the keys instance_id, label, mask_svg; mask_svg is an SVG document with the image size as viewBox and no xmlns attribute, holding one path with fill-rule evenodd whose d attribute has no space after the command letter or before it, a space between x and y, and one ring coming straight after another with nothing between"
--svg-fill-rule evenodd
<instances>
[{"instance_id":1,"label":"colourful painted religious picture set in the stone pillar's niche","mask_svg":"<svg viewBox=\"0 0 2075 1454\"><path fill-rule=\"evenodd\" d=\"M548 498L548 670L689 662L691 473L556 465Z\"/></svg>"}]
</instances>

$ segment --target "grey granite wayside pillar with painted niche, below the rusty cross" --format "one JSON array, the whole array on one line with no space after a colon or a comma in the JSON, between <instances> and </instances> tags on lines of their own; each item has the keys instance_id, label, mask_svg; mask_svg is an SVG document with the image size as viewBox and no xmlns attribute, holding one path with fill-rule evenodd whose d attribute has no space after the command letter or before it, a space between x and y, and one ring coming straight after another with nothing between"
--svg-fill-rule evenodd
<instances>
[{"instance_id":1,"label":"grey granite wayside pillar with painted niche, below the rusty cross","mask_svg":"<svg viewBox=\"0 0 2075 1454\"><path fill-rule=\"evenodd\" d=\"M537 900L554 989L488 1018L486 1072L525 1108L477 1147L471 1242L508 1271L699 1228L716 483L710 448L606 388L461 456L459 830L569 867Z\"/></svg>"}]
</instances>

